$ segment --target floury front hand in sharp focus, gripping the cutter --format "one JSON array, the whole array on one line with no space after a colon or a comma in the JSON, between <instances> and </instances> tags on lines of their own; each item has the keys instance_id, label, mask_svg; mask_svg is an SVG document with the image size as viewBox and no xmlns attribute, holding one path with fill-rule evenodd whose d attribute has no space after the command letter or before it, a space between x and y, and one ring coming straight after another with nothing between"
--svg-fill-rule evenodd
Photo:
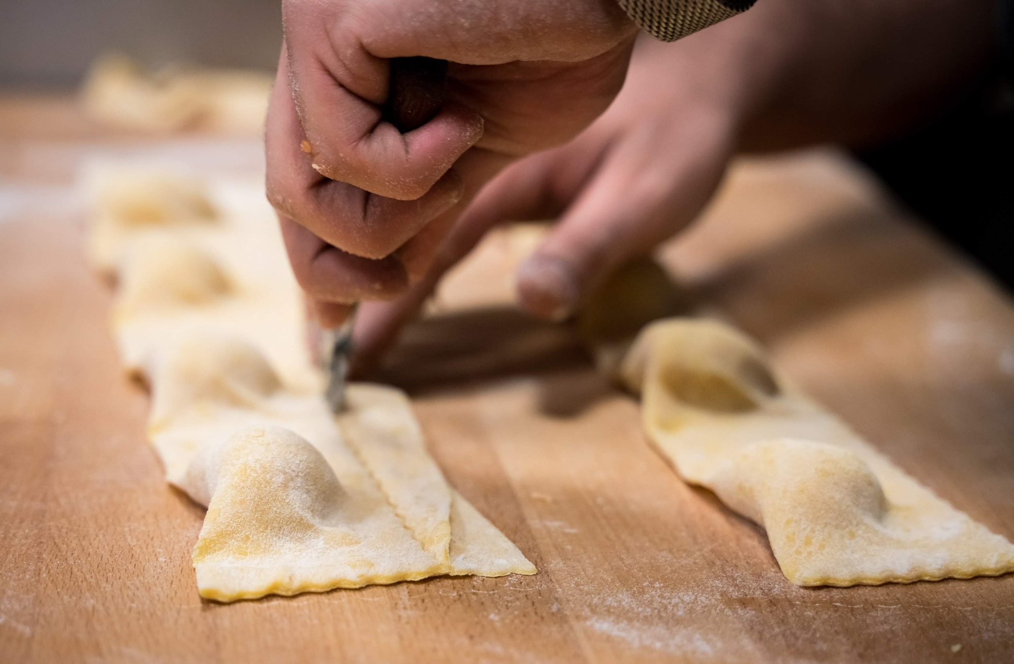
<instances>
[{"instance_id":1,"label":"floury front hand in sharp focus, gripping the cutter","mask_svg":"<svg viewBox=\"0 0 1014 664\"><path fill-rule=\"evenodd\" d=\"M614 0L287 0L268 196L321 322L420 279L501 168L565 143L623 84L636 28ZM446 101L380 119L389 58L450 61Z\"/></svg>"}]
</instances>

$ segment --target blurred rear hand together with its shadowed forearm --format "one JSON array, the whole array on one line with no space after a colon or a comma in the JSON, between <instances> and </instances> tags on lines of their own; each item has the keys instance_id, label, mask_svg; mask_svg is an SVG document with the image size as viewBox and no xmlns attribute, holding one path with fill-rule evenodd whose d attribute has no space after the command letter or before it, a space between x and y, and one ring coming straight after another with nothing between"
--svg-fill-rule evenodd
<instances>
[{"instance_id":1,"label":"blurred rear hand together with its shadowed forearm","mask_svg":"<svg viewBox=\"0 0 1014 664\"><path fill-rule=\"evenodd\" d=\"M424 279L363 307L354 371L376 362L443 272L497 224L560 218L517 283L522 307L562 319L615 266L693 221L736 149L868 143L932 112L988 53L990 7L760 0L675 44L642 42L594 124L504 170Z\"/></svg>"}]
</instances>

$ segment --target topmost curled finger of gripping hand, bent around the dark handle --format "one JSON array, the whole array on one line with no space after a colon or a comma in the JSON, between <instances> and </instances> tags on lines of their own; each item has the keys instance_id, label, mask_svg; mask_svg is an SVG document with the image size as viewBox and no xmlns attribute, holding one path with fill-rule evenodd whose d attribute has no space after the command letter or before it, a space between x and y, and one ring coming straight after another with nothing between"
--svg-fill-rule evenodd
<instances>
[{"instance_id":1,"label":"topmost curled finger of gripping hand, bent around the dark handle","mask_svg":"<svg viewBox=\"0 0 1014 664\"><path fill-rule=\"evenodd\" d=\"M283 5L288 71L279 80L290 81L311 167L387 198L420 198L482 137L482 117L445 104L404 135L385 121L390 61L367 52L356 33L359 19L341 4Z\"/></svg>"}]
</instances>

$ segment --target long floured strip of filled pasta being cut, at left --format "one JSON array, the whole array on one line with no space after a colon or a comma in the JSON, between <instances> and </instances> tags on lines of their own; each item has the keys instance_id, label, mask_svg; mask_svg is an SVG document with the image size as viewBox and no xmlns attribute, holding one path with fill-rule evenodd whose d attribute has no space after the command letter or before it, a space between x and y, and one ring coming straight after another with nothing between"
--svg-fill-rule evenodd
<instances>
[{"instance_id":1,"label":"long floured strip of filled pasta being cut, at left","mask_svg":"<svg viewBox=\"0 0 1014 664\"><path fill-rule=\"evenodd\" d=\"M202 183L144 170L127 204L117 177L95 189L90 255L116 267L114 328L151 388L166 479L208 507L202 596L535 572L447 485L404 394L354 384L330 412L270 209L230 215Z\"/></svg>"}]
</instances>

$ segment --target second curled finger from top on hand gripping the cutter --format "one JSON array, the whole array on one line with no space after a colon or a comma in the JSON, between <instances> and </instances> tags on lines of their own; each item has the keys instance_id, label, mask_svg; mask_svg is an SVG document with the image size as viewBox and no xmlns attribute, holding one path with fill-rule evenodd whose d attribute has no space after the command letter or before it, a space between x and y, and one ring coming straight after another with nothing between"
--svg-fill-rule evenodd
<instances>
[{"instance_id":1,"label":"second curled finger from top on hand gripping the cutter","mask_svg":"<svg viewBox=\"0 0 1014 664\"><path fill-rule=\"evenodd\" d=\"M287 75L283 49L279 80ZM268 198L280 215L348 253L389 255L462 195L461 178L454 171L443 173L415 200L386 198L328 179L313 169L303 137L292 96L285 85L276 85L266 133Z\"/></svg>"}]
</instances>

